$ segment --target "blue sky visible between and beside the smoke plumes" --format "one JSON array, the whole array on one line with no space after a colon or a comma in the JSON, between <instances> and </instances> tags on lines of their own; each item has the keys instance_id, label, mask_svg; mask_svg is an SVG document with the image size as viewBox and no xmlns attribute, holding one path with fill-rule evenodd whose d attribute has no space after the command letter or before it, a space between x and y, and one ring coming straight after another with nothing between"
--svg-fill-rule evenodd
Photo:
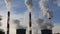
<instances>
[{"instance_id":1,"label":"blue sky visible between and beside the smoke plumes","mask_svg":"<svg viewBox=\"0 0 60 34\"><path fill-rule=\"evenodd\" d=\"M48 0L48 2L46 2L46 5L49 7L49 9L53 11L52 21L56 26L60 24L60 2L59 1L60 0ZM38 4L39 1L33 0L32 2L34 7L32 12L35 15L35 17L38 18L37 16L39 16L39 12L40 12L39 4ZM27 10L24 0L12 0L11 3L12 3L11 12L13 12L15 15L20 14L22 18L24 13ZM5 12L5 10L7 10L6 4L4 0L0 0L0 12L1 11ZM23 20L23 18L21 20Z\"/></svg>"}]
</instances>

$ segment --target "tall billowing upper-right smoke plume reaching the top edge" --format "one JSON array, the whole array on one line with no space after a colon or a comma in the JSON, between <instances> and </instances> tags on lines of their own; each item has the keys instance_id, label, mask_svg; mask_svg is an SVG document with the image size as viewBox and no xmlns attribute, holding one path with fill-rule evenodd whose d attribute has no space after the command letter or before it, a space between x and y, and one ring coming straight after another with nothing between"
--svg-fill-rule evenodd
<instances>
[{"instance_id":1,"label":"tall billowing upper-right smoke plume reaching the top edge","mask_svg":"<svg viewBox=\"0 0 60 34\"><path fill-rule=\"evenodd\" d=\"M39 2L39 5L41 7L42 17L47 16L48 18L51 18L52 17L52 15L51 15L52 12L49 10L48 6L46 6L46 2L47 2L47 0L41 0Z\"/></svg>"}]
</instances>

